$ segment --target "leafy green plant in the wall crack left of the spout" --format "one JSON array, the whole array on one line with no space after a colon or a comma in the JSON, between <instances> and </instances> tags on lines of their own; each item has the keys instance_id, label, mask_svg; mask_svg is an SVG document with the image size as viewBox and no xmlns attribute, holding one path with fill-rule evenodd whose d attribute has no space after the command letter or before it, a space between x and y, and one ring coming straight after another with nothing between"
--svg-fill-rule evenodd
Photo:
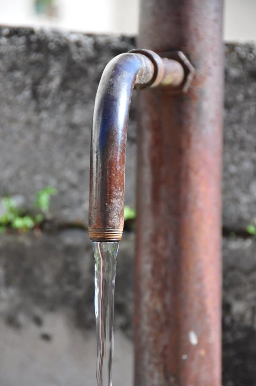
<instances>
[{"instance_id":1,"label":"leafy green plant in the wall crack left of the spout","mask_svg":"<svg viewBox=\"0 0 256 386\"><path fill-rule=\"evenodd\" d=\"M34 206L43 214L47 214L50 210L50 198L57 194L57 190L52 187L47 187L35 193L36 200ZM23 208L17 206L16 202L11 197L2 198L2 206L5 213L0 216L0 233L4 233L6 228L11 227L20 231L26 232L42 223L44 216L42 213L28 215Z\"/></svg>"}]
</instances>

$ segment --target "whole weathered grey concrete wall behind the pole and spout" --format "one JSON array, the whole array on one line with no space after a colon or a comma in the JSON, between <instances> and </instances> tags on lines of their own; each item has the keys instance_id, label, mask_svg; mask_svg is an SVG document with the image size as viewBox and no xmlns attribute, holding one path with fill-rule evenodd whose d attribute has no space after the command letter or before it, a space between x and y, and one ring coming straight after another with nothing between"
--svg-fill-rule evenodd
<instances>
[{"instance_id":1,"label":"whole weathered grey concrete wall behind the pole and spout","mask_svg":"<svg viewBox=\"0 0 256 386\"><path fill-rule=\"evenodd\" d=\"M134 39L124 36L0 29L0 194L22 195L30 208L35 191L52 185L59 192L52 206L57 225L46 224L39 236L0 236L0 353L5 353L0 354L0 369L5 369L0 371L1 386L80 386L84 377L88 377L86 385L95 384L94 371L84 372L80 357L87 353L81 340L90 350L87 329L94 324L93 257L86 232L90 128L104 66L133 46ZM135 103L134 99L126 166L126 203L131 206ZM228 44L224 386L256 385L256 241L245 232L256 217L255 123L256 45ZM78 223L81 229L74 228ZM237 236L229 236L232 231ZM115 296L115 325L128 336L132 334L133 244L133 233L124 234ZM64 336L69 338L61 345ZM120 339L120 353L125 346L131 358L129 342ZM91 367L88 356L85 363ZM65 373L65 368L73 373ZM124 385L117 378L116 384ZM131 385L132 378L125 379Z\"/></svg>"}]
</instances>

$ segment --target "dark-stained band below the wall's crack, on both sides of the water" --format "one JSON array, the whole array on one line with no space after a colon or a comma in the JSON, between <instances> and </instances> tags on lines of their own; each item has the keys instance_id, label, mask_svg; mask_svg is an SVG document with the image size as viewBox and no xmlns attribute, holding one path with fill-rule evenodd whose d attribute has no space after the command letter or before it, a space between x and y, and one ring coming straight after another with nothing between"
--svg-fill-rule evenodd
<instances>
[{"instance_id":1,"label":"dark-stained band below the wall's crack, on both sides of the water","mask_svg":"<svg viewBox=\"0 0 256 386\"><path fill-rule=\"evenodd\" d=\"M120 243L115 326L132 329L134 234ZM43 324L45 312L69 310L77 328L94 327L94 258L80 229L0 236L0 317L17 330L23 319Z\"/></svg>"}]
</instances>

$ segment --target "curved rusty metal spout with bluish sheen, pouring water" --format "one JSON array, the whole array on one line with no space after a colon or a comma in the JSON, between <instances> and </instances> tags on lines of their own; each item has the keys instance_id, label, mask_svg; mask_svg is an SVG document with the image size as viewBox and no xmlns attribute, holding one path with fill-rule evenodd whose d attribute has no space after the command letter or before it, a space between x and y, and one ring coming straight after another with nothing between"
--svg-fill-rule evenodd
<instances>
[{"instance_id":1,"label":"curved rusty metal spout with bluish sheen, pouring water","mask_svg":"<svg viewBox=\"0 0 256 386\"><path fill-rule=\"evenodd\" d=\"M119 241L123 231L125 151L132 91L177 89L185 71L178 61L132 50L105 68L96 95L90 158L89 237Z\"/></svg>"}]
</instances>

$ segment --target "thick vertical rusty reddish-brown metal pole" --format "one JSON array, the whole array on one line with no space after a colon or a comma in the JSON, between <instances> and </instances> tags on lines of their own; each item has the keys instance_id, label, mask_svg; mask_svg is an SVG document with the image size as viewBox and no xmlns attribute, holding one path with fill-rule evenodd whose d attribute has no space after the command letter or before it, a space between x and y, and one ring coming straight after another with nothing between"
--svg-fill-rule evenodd
<instances>
[{"instance_id":1,"label":"thick vertical rusty reddish-brown metal pole","mask_svg":"<svg viewBox=\"0 0 256 386\"><path fill-rule=\"evenodd\" d=\"M142 0L138 45L182 51L187 94L139 98L135 385L221 385L223 0Z\"/></svg>"}]
</instances>

